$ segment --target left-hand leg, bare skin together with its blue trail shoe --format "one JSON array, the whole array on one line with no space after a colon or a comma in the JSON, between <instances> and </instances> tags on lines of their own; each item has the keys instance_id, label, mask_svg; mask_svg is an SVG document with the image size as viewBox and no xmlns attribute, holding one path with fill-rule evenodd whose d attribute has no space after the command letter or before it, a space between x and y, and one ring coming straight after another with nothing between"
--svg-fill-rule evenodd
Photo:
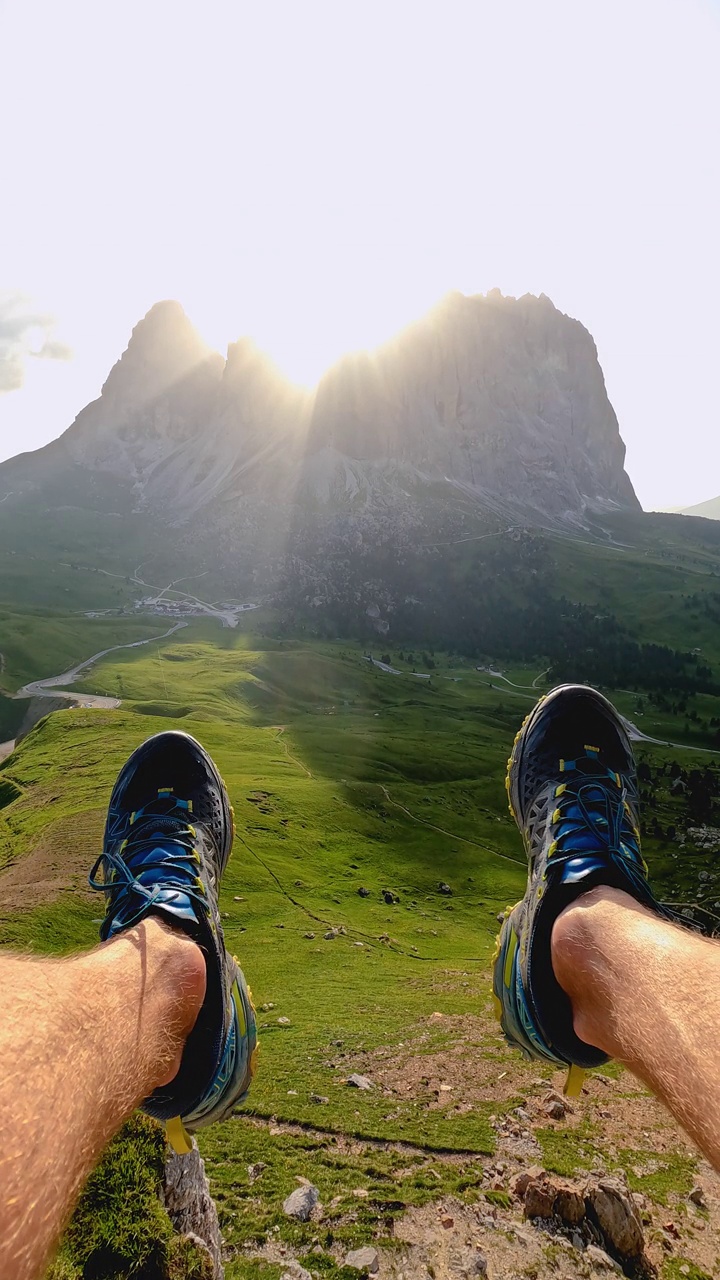
<instances>
[{"instance_id":1,"label":"left-hand leg, bare skin together with its blue trail shoe","mask_svg":"<svg viewBox=\"0 0 720 1280\"><path fill-rule=\"evenodd\" d=\"M31 1280L87 1172L135 1106L191 1132L243 1101L256 1029L218 890L232 809L210 756L159 733L113 788L91 884L104 946L0 954L0 1276Z\"/></svg>"}]
</instances>

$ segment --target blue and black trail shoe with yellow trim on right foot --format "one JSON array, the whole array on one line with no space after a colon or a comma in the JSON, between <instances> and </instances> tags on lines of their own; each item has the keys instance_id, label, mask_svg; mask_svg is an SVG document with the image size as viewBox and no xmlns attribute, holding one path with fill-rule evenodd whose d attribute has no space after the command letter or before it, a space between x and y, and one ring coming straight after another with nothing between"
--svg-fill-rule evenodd
<instances>
[{"instance_id":1,"label":"blue and black trail shoe with yellow trim on right foot","mask_svg":"<svg viewBox=\"0 0 720 1280\"><path fill-rule=\"evenodd\" d=\"M551 963L552 925L588 890L624 890L660 915L641 852L633 749L615 708L584 685L542 698L507 764L510 812L528 854L528 888L509 909L493 957L496 1012L527 1057L570 1068L566 1093L607 1055L575 1036Z\"/></svg>"}]
</instances>

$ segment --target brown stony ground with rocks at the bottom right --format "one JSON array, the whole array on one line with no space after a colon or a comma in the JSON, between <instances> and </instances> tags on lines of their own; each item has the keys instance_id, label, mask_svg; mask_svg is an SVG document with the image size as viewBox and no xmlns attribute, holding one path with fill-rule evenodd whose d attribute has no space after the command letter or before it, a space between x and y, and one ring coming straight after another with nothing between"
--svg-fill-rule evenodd
<instances>
[{"instance_id":1,"label":"brown stony ground with rocks at the bottom right","mask_svg":"<svg viewBox=\"0 0 720 1280\"><path fill-rule=\"evenodd\" d=\"M357 1164L372 1149L396 1152L398 1204L409 1199L404 1180L420 1175L437 1179L437 1197L391 1217L378 1210L364 1248L347 1249L337 1240L338 1222L357 1220L348 1201L356 1197L366 1210L369 1193L348 1185L324 1204L309 1165L283 1206L288 1219L306 1224L302 1244L281 1229L261 1248L242 1249L245 1258L279 1266L283 1280L325 1276L331 1261L343 1277L379 1280L603 1280L612 1274L712 1280L720 1274L720 1178L637 1080L610 1065L589 1075L570 1101L559 1073L533 1075L536 1069L521 1061L507 1065L502 1050L497 1065L487 1052L480 1060L469 1053L480 1027L455 1021L455 1051L423 1052L421 1042L388 1047L361 1066L366 1082L388 1097L425 1091L436 1106L447 1106L450 1094L457 1108L493 1098L495 1155L413 1148L415 1160L404 1166L406 1146L333 1135L332 1151L354 1155ZM274 1124L269 1133L290 1139L296 1128ZM456 1194L443 1190L451 1166L461 1175Z\"/></svg>"}]
</instances>

